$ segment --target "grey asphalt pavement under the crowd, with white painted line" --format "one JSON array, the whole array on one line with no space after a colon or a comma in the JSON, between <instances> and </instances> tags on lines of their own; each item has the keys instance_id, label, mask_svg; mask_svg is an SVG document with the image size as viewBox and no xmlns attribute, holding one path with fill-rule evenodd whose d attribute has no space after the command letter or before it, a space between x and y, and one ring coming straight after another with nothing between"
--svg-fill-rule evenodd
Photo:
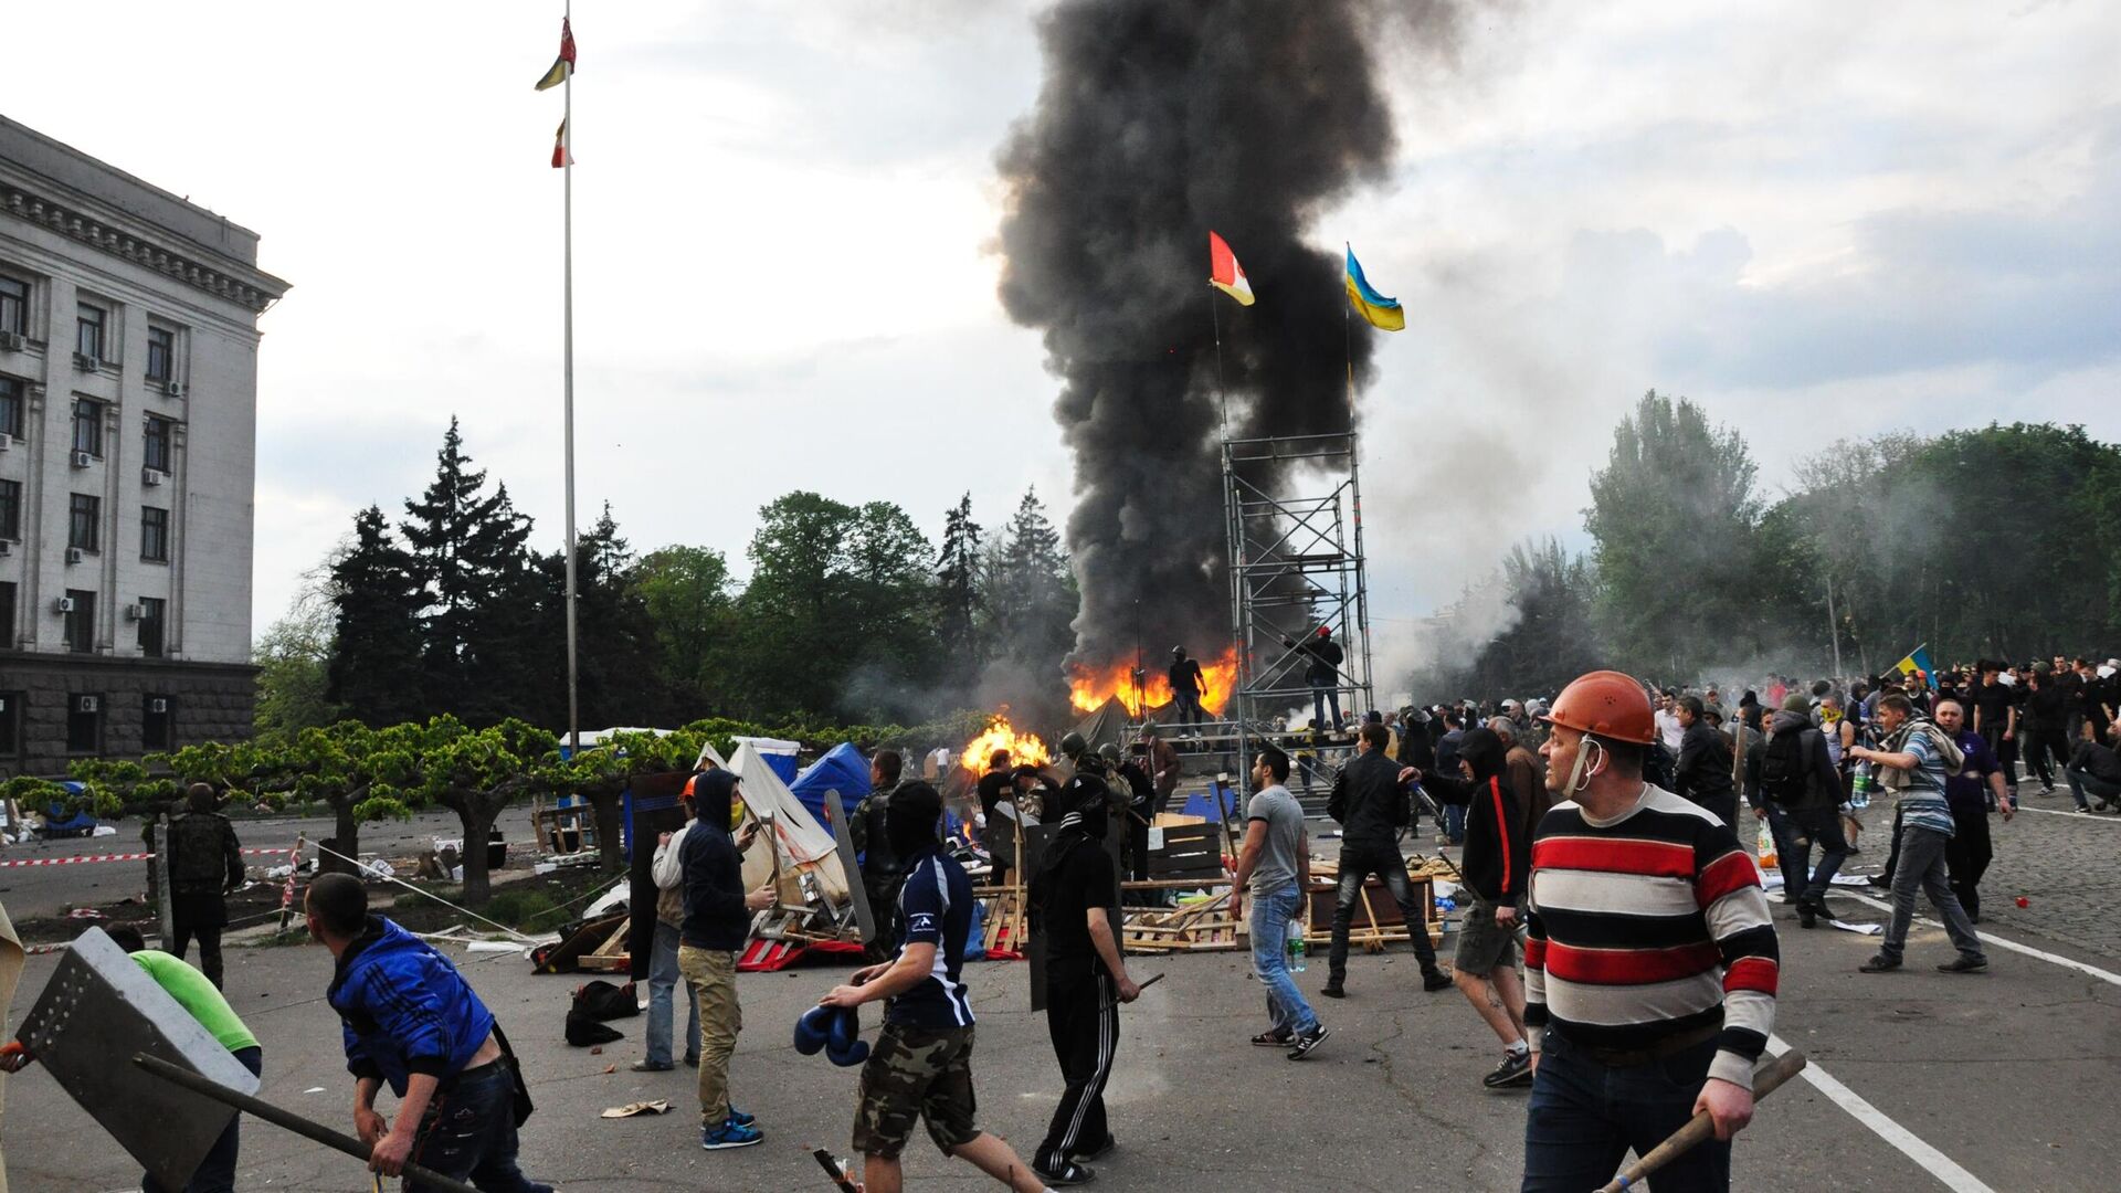
<instances>
[{"instance_id":1,"label":"grey asphalt pavement under the crowd, with white painted line","mask_svg":"<svg viewBox=\"0 0 2121 1193\"><path fill-rule=\"evenodd\" d=\"M1799 1078L1763 1102L1739 1136L1733 1187L2113 1189L2121 1172L2121 1136L2108 1117L2121 1072L2121 966L2106 940L2121 921L2117 851L2121 819L2028 813L1998 826L1983 930L2019 951L1992 943L1985 974L1934 972L1951 947L1920 921L1907 970L1858 974L1875 938L1801 932L1777 904L1777 1038L1811 1057L1818 1080ZM1873 868L1883 860L1877 849L1866 853L1860 862ZM2019 894L2026 909L2015 906ZM1883 919L1858 896L1835 902L1847 921ZM534 1178L562 1189L829 1187L806 1148L846 1153L855 1070L797 1055L789 1027L846 968L738 979L747 1030L732 1083L766 1142L702 1153L691 1070L626 1070L641 1055L641 1019L619 1021L626 1040L602 1055L571 1049L562 1021L579 976L532 976L513 953L452 955L526 1055L539 1112L524 1129L524 1168ZM11 1021L34 1002L53 964L32 957ZM1357 957L1351 996L1315 1000L1332 1038L1300 1064L1245 1044L1264 1025L1264 1010L1243 955L1130 964L1137 979L1169 976L1122 1017L1107 1093L1120 1151L1099 1163L1099 1189L1517 1189L1525 1095L1480 1089L1480 1074L1497 1059L1493 1036L1457 991L1421 993L1410 953ZM344 1127L352 1083L322 1004L329 976L331 957L316 947L229 953L231 1002L265 1047L263 1095ZM974 1072L982 1125L1029 1155L1058 1093L1046 1027L1029 1013L1022 966L978 964L967 981L980 1017ZM1315 998L1321 966L1298 985ZM865 1025L874 1036L874 1008ZM607 1074L607 1066L617 1072ZM674 1108L664 1117L598 1117L645 1097L668 1097ZM15 1189L132 1189L136 1180L132 1161L40 1068L8 1080L0 1140ZM908 1148L908 1180L993 1187L923 1138ZM240 1187L267 1185L367 1189L354 1161L246 1123Z\"/></svg>"}]
</instances>

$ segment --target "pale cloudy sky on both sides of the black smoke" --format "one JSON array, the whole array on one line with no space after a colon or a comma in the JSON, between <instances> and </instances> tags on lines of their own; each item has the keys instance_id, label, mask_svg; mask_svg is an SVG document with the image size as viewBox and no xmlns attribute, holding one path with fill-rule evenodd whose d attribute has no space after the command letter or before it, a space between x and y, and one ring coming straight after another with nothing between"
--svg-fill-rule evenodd
<instances>
[{"instance_id":1,"label":"pale cloudy sky on both sides of the black smoke","mask_svg":"<svg viewBox=\"0 0 2121 1193\"><path fill-rule=\"evenodd\" d=\"M791 488L999 522L1069 461L995 299L993 155L1041 4L588 0L581 520L742 558ZM1582 541L1646 388L1769 490L1843 435L2121 439L2121 15L2100 2L1470 4L1383 47L1391 176L1324 212L1408 308L1364 397L1381 637ZM0 110L263 236L257 628L450 414L560 537L558 6L17 4ZM1239 246L1243 253L1243 246ZM1385 641L1387 656L1391 643Z\"/></svg>"}]
</instances>

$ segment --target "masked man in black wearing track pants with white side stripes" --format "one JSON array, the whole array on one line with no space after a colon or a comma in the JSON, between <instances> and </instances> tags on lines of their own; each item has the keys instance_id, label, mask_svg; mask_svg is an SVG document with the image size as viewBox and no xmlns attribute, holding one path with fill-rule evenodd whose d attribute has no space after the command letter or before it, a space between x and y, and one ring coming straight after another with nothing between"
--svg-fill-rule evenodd
<instances>
[{"instance_id":1,"label":"masked man in black wearing track pants with white side stripes","mask_svg":"<svg viewBox=\"0 0 2121 1193\"><path fill-rule=\"evenodd\" d=\"M1092 1178L1082 1161L1114 1144L1105 1080L1120 1047L1120 1004L1141 987L1120 957L1120 875L1105 849L1111 790L1075 775L1058 805L1060 832L1031 877L1031 926L1046 940L1046 1030L1067 1089L1031 1170L1052 1185L1080 1185Z\"/></svg>"}]
</instances>

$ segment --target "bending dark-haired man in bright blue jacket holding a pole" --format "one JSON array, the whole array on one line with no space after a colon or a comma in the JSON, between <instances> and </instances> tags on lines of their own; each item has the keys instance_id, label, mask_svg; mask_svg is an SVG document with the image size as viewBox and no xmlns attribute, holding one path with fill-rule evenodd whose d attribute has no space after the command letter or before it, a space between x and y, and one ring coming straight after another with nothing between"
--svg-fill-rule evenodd
<instances>
[{"instance_id":1,"label":"bending dark-haired man in bright blue jacket holding a pole","mask_svg":"<svg viewBox=\"0 0 2121 1193\"><path fill-rule=\"evenodd\" d=\"M352 875L320 875L303 911L310 936L337 962L325 998L346 1027L354 1129L373 1148L369 1168L397 1176L418 1159L488 1193L551 1193L515 1168L515 1066L456 966L369 915L369 892ZM375 1112L384 1083L399 1100L388 1121ZM443 1121L448 1129L437 1129Z\"/></svg>"}]
</instances>

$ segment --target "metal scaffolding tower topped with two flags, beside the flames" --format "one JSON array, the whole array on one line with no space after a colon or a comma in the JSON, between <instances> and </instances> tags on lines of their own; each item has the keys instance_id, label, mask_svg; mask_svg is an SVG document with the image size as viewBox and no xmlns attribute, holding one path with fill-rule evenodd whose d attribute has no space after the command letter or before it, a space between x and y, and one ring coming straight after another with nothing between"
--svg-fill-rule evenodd
<instances>
[{"instance_id":1,"label":"metal scaffolding tower topped with two flags, beside the flames","mask_svg":"<svg viewBox=\"0 0 2121 1193\"><path fill-rule=\"evenodd\" d=\"M1230 539L1230 626L1237 641L1237 690L1224 717L1237 722L1237 788L1251 794L1254 751L1307 741L1315 707L1298 643L1319 626L1334 630L1345 658L1330 692L1343 726L1355 728L1372 705L1370 590L1362 550L1357 435L1224 439L1222 488ZM1302 709L1287 730L1275 717ZM1347 754L1353 741L1332 732L1319 751ZM1292 781L1296 777L1292 775ZM1239 805L1243 807L1243 805Z\"/></svg>"}]
</instances>

